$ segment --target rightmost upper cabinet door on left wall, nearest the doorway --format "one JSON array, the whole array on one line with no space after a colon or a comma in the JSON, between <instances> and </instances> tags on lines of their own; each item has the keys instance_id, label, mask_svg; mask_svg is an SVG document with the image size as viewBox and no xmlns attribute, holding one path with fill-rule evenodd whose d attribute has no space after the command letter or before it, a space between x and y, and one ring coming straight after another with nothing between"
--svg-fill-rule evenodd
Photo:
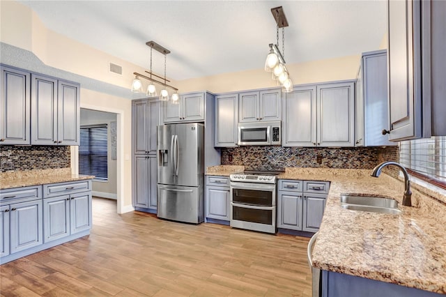
<instances>
[{"instance_id":1,"label":"rightmost upper cabinet door on left wall, nearest the doorway","mask_svg":"<svg viewBox=\"0 0 446 297\"><path fill-rule=\"evenodd\" d=\"M79 84L59 81L57 100L57 143L79 145L80 100Z\"/></svg>"}]
</instances>

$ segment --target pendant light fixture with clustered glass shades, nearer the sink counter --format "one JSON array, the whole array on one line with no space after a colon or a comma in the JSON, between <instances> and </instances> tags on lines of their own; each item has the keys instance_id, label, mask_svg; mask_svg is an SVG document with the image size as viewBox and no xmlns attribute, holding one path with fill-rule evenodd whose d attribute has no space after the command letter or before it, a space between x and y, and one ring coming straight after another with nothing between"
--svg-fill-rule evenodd
<instances>
[{"instance_id":1,"label":"pendant light fixture with clustered glass shades, nearer the sink counter","mask_svg":"<svg viewBox=\"0 0 446 297\"><path fill-rule=\"evenodd\" d=\"M289 77L285 66L285 27L288 26L282 6L271 8L276 27L277 44L270 43L270 52L266 56L265 70L272 73L272 79L277 80L277 84L282 86L282 91L289 93L293 91L293 82ZM279 50L279 28L282 28L282 52Z\"/></svg>"}]
</instances>

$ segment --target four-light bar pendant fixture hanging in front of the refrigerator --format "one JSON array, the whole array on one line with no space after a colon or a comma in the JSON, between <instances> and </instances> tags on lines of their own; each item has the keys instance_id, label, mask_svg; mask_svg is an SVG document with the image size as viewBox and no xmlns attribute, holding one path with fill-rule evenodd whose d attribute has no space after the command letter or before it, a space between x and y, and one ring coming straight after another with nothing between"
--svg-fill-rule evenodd
<instances>
[{"instance_id":1,"label":"four-light bar pendant fixture hanging in front of the refrigerator","mask_svg":"<svg viewBox=\"0 0 446 297\"><path fill-rule=\"evenodd\" d=\"M150 74L150 77L146 75L141 75L140 73L133 73L135 75L133 82L132 82L132 92L134 93L142 93L142 82L139 77L142 77L144 79L147 79L150 83L147 86L146 96L153 97L157 96L156 86L153 84L154 82L157 84L162 85L164 88L160 91L160 100L161 101L168 101L169 100L169 92L166 88L170 88L174 90L174 93L171 95L171 101L173 104L178 104L180 102L180 96L178 95L178 89L176 89L174 86L170 86L167 84L167 82L170 82L168 79L166 79L166 62L167 62L167 54L170 53L169 50L162 47L161 45L155 43L154 41L148 41L146 42L146 45L151 48L151 70L146 71L146 73ZM157 52L160 52L161 54L164 54L164 77L160 77L158 75L155 75L152 72L152 50L156 50ZM160 82L157 79L152 78L152 75L159 78L164 79L164 82Z\"/></svg>"}]
</instances>

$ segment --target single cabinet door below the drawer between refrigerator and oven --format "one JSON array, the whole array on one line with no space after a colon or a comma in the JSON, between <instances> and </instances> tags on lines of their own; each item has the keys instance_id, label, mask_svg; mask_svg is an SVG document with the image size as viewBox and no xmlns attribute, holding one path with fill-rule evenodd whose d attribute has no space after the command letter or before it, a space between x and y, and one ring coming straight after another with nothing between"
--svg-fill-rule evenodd
<instances>
[{"instance_id":1,"label":"single cabinet door below the drawer between refrigerator and oven","mask_svg":"<svg viewBox=\"0 0 446 297\"><path fill-rule=\"evenodd\" d=\"M206 218L229 221L229 188L206 187Z\"/></svg>"}]
</instances>

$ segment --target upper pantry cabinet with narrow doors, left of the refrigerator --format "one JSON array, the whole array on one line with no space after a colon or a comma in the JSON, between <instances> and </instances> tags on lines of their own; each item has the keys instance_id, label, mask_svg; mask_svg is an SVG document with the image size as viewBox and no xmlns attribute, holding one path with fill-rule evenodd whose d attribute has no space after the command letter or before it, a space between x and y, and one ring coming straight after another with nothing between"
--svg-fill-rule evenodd
<instances>
[{"instance_id":1,"label":"upper pantry cabinet with narrow doors, left of the refrigerator","mask_svg":"<svg viewBox=\"0 0 446 297\"><path fill-rule=\"evenodd\" d=\"M132 102L132 137L134 154L156 153L156 131L160 125L160 104L157 99Z\"/></svg>"}]
</instances>

